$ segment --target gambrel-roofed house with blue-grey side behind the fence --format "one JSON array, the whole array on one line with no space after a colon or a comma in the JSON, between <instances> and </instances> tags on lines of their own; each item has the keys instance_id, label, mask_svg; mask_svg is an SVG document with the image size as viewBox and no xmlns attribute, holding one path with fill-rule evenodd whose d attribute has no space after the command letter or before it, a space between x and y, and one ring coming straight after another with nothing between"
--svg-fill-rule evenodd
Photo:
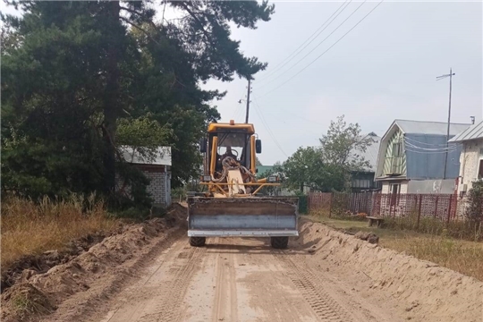
<instances>
[{"instance_id":1,"label":"gambrel-roofed house with blue-grey side behind the fence","mask_svg":"<svg viewBox=\"0 0 483 322\"><path fill-rule=\"evenodd\" d=\"M470 124L451 123L450 138ZM453 193L462 147L447 148L447 123L395 120L381 140L376 181L382 193ZM447 160L447 161L446 161Z\"/></svg>"}]
</instances>

